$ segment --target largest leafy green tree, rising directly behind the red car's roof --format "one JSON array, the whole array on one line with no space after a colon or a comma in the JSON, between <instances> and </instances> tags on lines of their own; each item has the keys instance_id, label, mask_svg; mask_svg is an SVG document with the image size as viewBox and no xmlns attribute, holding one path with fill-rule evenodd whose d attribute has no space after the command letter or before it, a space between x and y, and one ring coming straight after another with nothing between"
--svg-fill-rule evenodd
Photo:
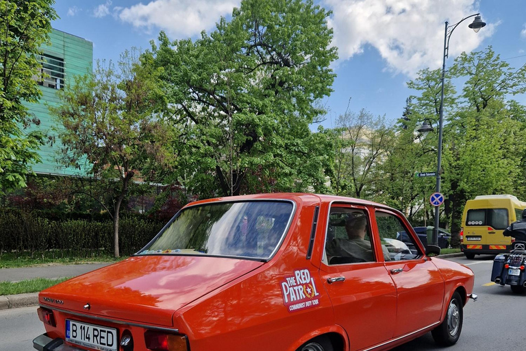
<instances>
[{"instance_id":1,"label":"largest leafy green tree, rising directly behind the red car's roof","mask_svg":"<svg viewBox=\"0 0 526 351\"><path fill-rule=\"evenodd\" d=\"M244 0L195 42L160 34L145 56L183 130L179 182L202 197L325 191L331 162L313 141L326 134L309 125L335 76L329 14L313 1Z\"/></svg>"}]
</instances>

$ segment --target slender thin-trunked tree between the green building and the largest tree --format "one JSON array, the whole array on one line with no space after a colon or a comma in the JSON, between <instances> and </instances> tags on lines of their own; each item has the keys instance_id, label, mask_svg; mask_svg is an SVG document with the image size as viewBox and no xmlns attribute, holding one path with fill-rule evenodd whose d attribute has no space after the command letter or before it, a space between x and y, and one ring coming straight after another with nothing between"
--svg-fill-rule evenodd
<instances>
[{"instance_id":1,"label":"slender thin-trunked tree between the green building and the largest tree","mask_svg":"<svg viewBox=\"0 0 526 351\"><path fill-rule=\"evenodd\" d=\"M51 108L64 127L58 130L64 145L60 161L76 166L85 162L93 176L113 184L110 215L116 257L119 210L132 181L138 176L155 179L158 169L173 165L168 149L173 131L158 113L164 104L158 73L141 65L137 54L125 51L118 70L112 62L97 62L95 72L75 77L75 83L59 93L59 106Z\"/></svg>"}]
</instances>

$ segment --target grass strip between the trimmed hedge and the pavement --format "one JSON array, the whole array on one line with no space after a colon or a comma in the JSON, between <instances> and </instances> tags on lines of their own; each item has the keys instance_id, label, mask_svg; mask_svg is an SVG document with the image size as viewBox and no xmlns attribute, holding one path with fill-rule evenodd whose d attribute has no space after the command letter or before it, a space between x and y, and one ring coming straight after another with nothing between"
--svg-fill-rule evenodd
<instances>
[{"instance_id":1,"label":"grass strip between the trimmed hedge and the pavement","mask_svg":"<svg viewBox=\"0 0 526 351\"><path fill-rule=\"evenodd\" d=\"M91 255L75 254L75 252L62 254L57 250L36 252L31 258L29 252L4 252L0 256L0 268L35 267L39 265L81 265L83 263L116 262L123 258L114 258L103 252L93 252Z\"/></svg>"}]
</instances>

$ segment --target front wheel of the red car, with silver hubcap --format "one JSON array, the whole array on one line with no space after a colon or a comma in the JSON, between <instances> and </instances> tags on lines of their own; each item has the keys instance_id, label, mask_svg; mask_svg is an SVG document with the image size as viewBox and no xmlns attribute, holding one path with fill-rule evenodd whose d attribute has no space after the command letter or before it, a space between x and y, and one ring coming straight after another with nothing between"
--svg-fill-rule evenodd
<instances>
[{"instance_id":1,"label":"front wheel of the red car, with silver hubcap","mask_svg":"<svg viewBox=\"0 0 526 351\"><path fill-rule=\"evenodd\" d=\"M435 343L439 346L451 346L456 343L462 332L463 317L462 298L458 291L455 291L447 306L444 322L431 330Z\"/></svg>"}]
</instances>

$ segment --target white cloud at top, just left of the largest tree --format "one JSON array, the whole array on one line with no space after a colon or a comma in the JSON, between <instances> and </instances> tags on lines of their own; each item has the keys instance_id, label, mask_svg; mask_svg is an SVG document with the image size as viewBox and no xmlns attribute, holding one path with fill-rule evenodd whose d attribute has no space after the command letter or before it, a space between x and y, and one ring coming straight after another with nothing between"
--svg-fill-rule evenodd
<instances>
[{"instance_id":1,"label":"white cloud at top, just left of the largest tree","mask_svg":"<svg viewBox=\"0 0 526 351\"><path fill-rule=\"evenodd\" d=\"M240 0L153 0L147 5L124 8L119 17L134 27L158 27L171 38L195 36L203 29L212 29L220 16L231 14Z\"/></svg>"}]
</instances>

